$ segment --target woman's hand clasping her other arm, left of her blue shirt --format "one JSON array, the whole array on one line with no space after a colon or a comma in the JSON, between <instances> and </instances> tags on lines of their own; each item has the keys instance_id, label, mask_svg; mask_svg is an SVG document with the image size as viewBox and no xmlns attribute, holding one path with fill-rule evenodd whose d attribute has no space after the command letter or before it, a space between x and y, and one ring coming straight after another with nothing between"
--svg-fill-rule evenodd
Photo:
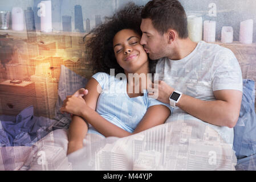
<instances>
[{"instance_id":1,"label":"woman's hand clasping her other arm, left of her blue shirt","mask_svg":"<svg viewBox=\"0 0 256 182\"><path fill-rule=\"evenodd\" d=\"M86 101L82 96L67 96L66 100L63 101L62 107L60 107L60 113L67 112L81 116L86 107Z\"/></svg>"}]
</instances>

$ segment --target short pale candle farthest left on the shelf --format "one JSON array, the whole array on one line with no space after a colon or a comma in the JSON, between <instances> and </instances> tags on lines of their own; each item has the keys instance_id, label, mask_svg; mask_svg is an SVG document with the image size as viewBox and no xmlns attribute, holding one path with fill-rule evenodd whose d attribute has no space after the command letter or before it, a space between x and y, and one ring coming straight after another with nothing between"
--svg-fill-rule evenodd
<instances>
[{"instance_id":1,"label":"short pale candle farthest left on the shelf","mask_svg":"<svg viewBox=\"0 0 256 182\"><path fill-rule=\"evenodd\" d=\"M15 31L24 30L24 16L21 7L13 7L11 10L12 29Z\"/></svg>"}]
</instances>

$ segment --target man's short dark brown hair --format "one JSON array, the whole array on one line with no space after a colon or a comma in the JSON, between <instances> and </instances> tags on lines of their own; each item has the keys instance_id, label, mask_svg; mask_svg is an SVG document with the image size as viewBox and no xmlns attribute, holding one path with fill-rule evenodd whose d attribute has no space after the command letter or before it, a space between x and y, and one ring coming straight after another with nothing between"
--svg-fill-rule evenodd
<instances>
[{"instance_id":1,"label":"man's short dark brown hair","mask_svg":"<svg viewBox=\"0 0 256 182\"><path fill-rule=\"evenodd\" d=\"M169 28L176 30L181 39L188 38L188 20L186 13L177 0L152 0L141 11L141 18L150 18L160 34Z\"/></svg>"}]
</instances>

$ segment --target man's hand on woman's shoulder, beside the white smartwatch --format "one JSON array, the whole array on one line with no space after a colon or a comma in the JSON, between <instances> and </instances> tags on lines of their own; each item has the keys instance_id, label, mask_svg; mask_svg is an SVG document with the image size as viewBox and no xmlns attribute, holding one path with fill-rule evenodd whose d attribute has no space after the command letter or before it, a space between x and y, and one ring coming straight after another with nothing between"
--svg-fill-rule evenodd
<instances>
[{"instance_id":1,"label":"man's hand on woman's shoulder, beside the white smartwatch","mask_svg":"<svg viewBox=\"0 0 256 182\"><path fill-rule=\"evenodd\" d=\"M148 88L148 96L169 104L169 97L174 89L167 85L164 81L159 80L159 82L152 83L152 88Z\"/></svg>"}]
</instances>

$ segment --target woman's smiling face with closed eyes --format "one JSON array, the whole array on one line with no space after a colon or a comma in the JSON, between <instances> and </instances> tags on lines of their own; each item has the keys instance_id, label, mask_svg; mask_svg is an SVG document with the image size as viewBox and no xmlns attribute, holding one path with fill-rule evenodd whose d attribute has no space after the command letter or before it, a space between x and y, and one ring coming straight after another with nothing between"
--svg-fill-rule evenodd
<instances>
[{"instance_id":1,"label":"woman's smiling face with closed eyes","mask_svg":"<svg viewBox=\"0 0 256 182\"><path fill-rule=\"evenodd\" d=\"M113 38L117 63L128 73L148 67L148 55L140 44L140 38L140 35L129 29L117 32Z\"/></svg>"}]
</instances>

